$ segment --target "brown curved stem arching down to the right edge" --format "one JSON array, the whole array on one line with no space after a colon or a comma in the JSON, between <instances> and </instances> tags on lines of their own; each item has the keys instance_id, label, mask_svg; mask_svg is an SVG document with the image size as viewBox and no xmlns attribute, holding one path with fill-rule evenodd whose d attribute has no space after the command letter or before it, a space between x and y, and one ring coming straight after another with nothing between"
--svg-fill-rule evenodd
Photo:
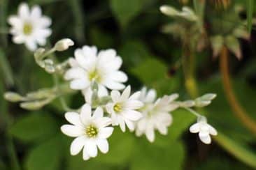
<instances>
[{"instance_id":1,"label":"brown curved stem arching down to the right edge","mask_svg":"<svg viewBox=\"0 0 256 170\"><path fill-rule=\"evenodd\" d=\"M223 47L220 54L220 71L222 75L222 83L225 90L225 95L236 117L239 118L239 120L245 127L248 128L248 130L253 132L253 134L256 134L256 122L248 116L245 109L243 109L243 107L239 104L239 101L236 99L236 95L234 94L232 81L229 77L228 57L229 52L227 47Z\"/></svg>"}]
</instances>

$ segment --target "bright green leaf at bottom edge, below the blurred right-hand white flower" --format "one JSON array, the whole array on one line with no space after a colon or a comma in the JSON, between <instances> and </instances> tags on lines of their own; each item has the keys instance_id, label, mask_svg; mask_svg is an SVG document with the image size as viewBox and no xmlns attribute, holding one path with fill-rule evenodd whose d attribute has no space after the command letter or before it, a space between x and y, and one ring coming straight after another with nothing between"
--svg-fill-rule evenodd
<instances>
[{"instance_id":1,"label":"bright green leaf at bottom edge, below the blurred right-hand white flower","mask_svg":"<svg viewBox=\"0 0 256 170\"><path fill-rule=\"evenodd\" d=\"M182 169L185 149L180 141L169 143L165 148L152 146L150 142L136 142L131 160L131 170L178 170Z\"/></svg>"}]
</instances>

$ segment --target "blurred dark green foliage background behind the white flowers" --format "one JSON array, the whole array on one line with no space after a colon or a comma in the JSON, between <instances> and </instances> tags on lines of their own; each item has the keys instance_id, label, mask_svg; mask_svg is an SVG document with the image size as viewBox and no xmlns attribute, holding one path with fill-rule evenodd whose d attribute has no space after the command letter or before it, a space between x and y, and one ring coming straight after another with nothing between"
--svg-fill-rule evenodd
<instances>
[{"instance_id":1,"label":"blurred dark green foliage background behind the white flowers","mask_svg":"<svg viewBox=\"0 0 256 170\"><path fill-rule=\"evenodd\" d=\"M29 0L29 4L39 4L43 13L52 17L52 44L59 38L69 37L76 41L76 47L96 45L99 49L115 48L123 59L123 67L129 74L128 84L135 89L145 85L155 88L162 96L179 93L180 99L187 100L189 95L184 86L183 69L180 66L182 42L173 36L161 32L169 17L159 12L159 6L169 4L181 8L180 1L171 0ZM232 5L244 1L232 1ZM0 1L0 30L6 29L6 16L16 13L20 1ZM187 5L193 7L192 1ZM253 6L255 8L255 4ZM216 10L215 22L234 24L232 18L223 19L224 9L214 8L213 3L206 6L206 16ZM215 11L215 12L216 12ZM250 8L250 14L253 10ZM246 11L244 11L246 13ZM241 13L241 17L243 14ZM210 18L211 18L210 17ZM207 21L207 23L211 21ZM251 22L251 21L249 21ZM219 29L210 25L208 29ZM255 116L256 66L255 66L255 30L250 42L241 41L243 60L230 60L234 86L241 104L252 118ZM221 30L219 30L221 31ZM52 77L43 72L34 63L33 54L27 52L22 45L15 45L4 33L1 36L0 56L0 169L13 169L13 160L8 151L8 139L13 138L18 162L25 170L75 170L75 169L252 169L248 164L236 160L236 156L213 142L204 146L196 135L189 134L189 126L196 121L187 111L173 111L173 125L169 134L157 134L156 140L150 144L145 137L135 137L131 132L122 133L118 128L109 139L110 151L100 154L87 162L81 155L71 156L69 145L71 139L59 130L64 124L64 111L59 101L44 107L41 111L24 111L17 105L3 100L3 92L14 90L19 93L34 91L38 88L53 85ZM8 39L6 39L8 38ZM8 40L8 41L6 41ZM58 54L59 60L73 56L73 47L69 52ZM212 59L211 49L206 49L196 56L196 78L199 95L217 93L203 114L216 129L235 142L232 146L246 146L250 153L250 161L255 160L255 134L249 132L232 113L222 90L217 61ZM10 70L11 69L11 70ZM10 77L8 74L13 74ZM11 83L14 79L14 85ZM71 107L83 104L78 95L66 96ZM236 150L236 147L234 147ZM240 152L240 148L237 148ZM246 157L244 157L246 159ZM249 159L249 158L248 158Z\"/></svg>"}]
</instances>

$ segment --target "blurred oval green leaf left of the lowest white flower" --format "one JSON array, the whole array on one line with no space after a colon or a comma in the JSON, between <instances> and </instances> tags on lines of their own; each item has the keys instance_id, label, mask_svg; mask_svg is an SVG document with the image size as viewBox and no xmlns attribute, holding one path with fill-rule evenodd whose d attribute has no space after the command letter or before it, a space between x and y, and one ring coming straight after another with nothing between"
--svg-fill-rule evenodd
<instances>
[{"instance_id":1,"label":"blurred oval green leaf left of the lowest white flower","mask_svg":"<svg viewBox=\"0 0 256 170\"><path fill-rule=\"evenodd\" d=\"M23 142L33 142L48 139L57 133L57 122L43 112L29 114L20 118L12 127L10 133Z\"/></svg>"}]
</instances>

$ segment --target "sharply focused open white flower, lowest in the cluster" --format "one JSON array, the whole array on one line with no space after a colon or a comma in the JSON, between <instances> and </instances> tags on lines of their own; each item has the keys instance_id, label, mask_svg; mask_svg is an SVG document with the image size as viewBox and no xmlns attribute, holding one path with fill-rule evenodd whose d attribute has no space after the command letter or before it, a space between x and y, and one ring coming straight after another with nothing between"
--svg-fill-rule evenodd
<instances>
[{"instance_id":1,"label":"sharply focused open white flower, lowest in the cluster","mask_svg":"<svg viewBox=\"0 0 256 170\"><path fill-rule=\"evenodd\" d=\"M98 149L108 152L107 138L111 136L113 127L111 118L104 117L101 107L92 114L90 105L83 105L81 113L67 112L65 118L72 125L62 125L61 130L69 137L76 137L71 144L71 155L77 155L83 149L83 160L96 157Z\"/></svg>"}]
</instances>

